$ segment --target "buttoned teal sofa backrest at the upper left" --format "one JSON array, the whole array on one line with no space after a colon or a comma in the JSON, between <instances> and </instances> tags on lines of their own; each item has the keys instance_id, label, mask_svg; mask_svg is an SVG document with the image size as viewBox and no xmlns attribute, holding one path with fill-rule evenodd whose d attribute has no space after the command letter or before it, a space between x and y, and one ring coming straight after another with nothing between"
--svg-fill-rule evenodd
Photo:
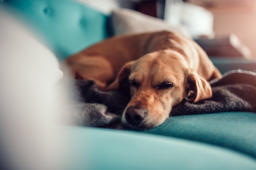
<instances>
[{"instance_id":1,"label":"buttoned teal sofa backrest at the upper left","mask_svg":"<svg viewBox=\"0 0 256 170\"><path fill-rule=\"evenodd\" d=\"M108 16L71 0L4 0L61 61L109 36ZM18 13L19 15L19 13Z\"/></svg>"}]
</instances>

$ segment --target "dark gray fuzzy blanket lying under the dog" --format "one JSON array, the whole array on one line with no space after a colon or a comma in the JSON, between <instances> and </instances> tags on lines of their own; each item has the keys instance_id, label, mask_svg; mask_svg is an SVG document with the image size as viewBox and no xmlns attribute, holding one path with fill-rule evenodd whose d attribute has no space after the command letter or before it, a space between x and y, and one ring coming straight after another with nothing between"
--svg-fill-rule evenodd
<instances>
[{"instance_id":1,"label":"dark gray fuzzy blanket lying under the dog","mask_svg":"<svg viewBox=\"0 0 256 170\"><path fill-rule=\"evenodd\" d=\"M99 91L91 80L63 80L72 91L73 101L65 103L63 113L68 123L123 129L120 116L130 100L125 91ZM210 82L212 98L197 103L185 99L173 107L170 115L206 114L225 111L256 112L256 73L230 71L220 80Z\"/></svg>"}]
</instances>

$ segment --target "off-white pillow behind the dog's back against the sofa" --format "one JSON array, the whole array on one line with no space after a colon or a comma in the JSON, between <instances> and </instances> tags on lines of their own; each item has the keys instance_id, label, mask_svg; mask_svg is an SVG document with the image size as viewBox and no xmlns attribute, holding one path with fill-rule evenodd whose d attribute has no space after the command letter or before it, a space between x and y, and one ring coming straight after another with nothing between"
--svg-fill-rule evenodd
<instances>
[{"instance_id":1,"label":"off-white pillow behind the dog's back against the sofa","mask_svg":"<svg viewBox=\"0 0 256 170\"><path fill-rule=\"evenodd\" d=\"M187 37L191 37L189 31L185 27L173 27L167 25L162 19L151 17L131 9L114 9L112 11L111 21L114 35L166 30L178 32Z\"/></svg>"}]
</instances>

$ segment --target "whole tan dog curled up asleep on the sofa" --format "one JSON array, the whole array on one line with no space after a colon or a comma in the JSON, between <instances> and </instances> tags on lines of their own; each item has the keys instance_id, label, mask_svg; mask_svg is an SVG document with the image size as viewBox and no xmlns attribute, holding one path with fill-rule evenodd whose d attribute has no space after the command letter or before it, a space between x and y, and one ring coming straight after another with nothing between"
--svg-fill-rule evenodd
<instances>
[{"instance_id":1,"label":"whole tan dog curled up asleep on the sofa","mask_svg":"<svg viewBox=\"0 0 256 170\"><path fill-rule=\"evenodd\" d=\"M129 89L122 123L142 129L161 124L185 98L211 98L207 80L221 77L198 44L167 31L113 37L65 64L73 77L94 80L101 90Z\"/></svg>"}]
</instances>

